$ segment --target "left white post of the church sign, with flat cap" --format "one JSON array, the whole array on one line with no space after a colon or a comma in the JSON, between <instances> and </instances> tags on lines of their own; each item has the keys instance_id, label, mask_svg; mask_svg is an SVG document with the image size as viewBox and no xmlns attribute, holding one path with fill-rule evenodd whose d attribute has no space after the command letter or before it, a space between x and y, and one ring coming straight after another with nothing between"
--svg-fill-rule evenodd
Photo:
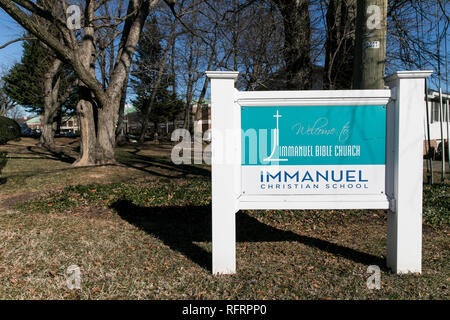
<instances>
[{"instance_id":1,"label":"left white post of the church sign, with flat cap","mask_svg":"<svg viewBox=\"0 0 450 320\"><path fill-rule=\"evenodd\" d=\"M236 273L236 212L240 191L238 72L207 71L211 79L212 272Z\"/></svg>"}]
</instances>

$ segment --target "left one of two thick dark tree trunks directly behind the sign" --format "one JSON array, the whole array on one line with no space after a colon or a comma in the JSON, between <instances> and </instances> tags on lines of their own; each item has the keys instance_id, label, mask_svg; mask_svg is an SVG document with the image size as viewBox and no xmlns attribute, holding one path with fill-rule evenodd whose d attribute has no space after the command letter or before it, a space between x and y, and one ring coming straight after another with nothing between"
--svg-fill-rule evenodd
<instances>
[{"instance_id":1,"label":"left one of two thick dark tree trunks directly behind the sign","mask_svg":"<svg viewBox=\"0 0 450 320\"><path fill-rule=\"evenodd\" d=\"M308 0L274 0L283 16L286 89L312 85L311 21Z\"/></svg>"}]
</instances>

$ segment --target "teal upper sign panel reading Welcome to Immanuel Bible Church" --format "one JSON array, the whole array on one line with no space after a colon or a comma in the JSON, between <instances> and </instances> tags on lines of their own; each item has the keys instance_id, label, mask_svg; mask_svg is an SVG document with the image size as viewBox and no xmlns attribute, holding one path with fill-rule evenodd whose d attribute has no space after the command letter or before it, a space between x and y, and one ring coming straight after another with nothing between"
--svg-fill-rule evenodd
<instances>
[{"instance_id":1,"label":"teal upper sign panel reading Welcome to Immanuel Bible Church","mask_svg":"<svg viewBox=\"0 0 450 320\"><path fill-rule=\"evenodd\" d=\"M385 106L241 107L242 165L384 165Z\"/></svg>"}]
</instances>

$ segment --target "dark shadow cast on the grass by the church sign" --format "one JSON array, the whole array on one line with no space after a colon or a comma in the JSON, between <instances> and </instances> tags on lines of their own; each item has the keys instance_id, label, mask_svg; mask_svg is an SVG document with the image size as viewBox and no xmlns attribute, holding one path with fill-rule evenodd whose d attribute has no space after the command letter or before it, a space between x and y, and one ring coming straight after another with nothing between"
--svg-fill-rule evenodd
<instances>
[{"instance_id":1,"label":"dark shadow cast on the grass by the church sign","mask_svg":"<svg viewBox=\"0 0 450 320\"><path fill-rule=\"evenodd\" d=\"M208 271L212 270L212 255L194 242L211 242L211 206L142 207L129 200L111 205L125 221L157 237L171 249L182 253ZM280 230L249 216L236 215L238 242L297 241L364 265L378 265L386 270L385 260L329 241Z\"/></svg>"}]
</instances>

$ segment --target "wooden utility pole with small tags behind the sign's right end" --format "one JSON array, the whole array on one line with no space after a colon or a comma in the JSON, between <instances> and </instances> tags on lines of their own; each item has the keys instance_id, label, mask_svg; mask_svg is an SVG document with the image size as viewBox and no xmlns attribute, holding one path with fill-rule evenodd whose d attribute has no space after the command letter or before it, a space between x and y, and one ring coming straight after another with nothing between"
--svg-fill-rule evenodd
<instances>
[{"instance_id":1,"label":"wooden utility pole with small tags behind the sign's right end","mask_svg":"<svg viewBox=\"0 0 450 320\"><path fill-rule=\"evenodd\" d=\"M358 0L353 89L384 89L387 0Z\"/></svg>"}]
</instances>

